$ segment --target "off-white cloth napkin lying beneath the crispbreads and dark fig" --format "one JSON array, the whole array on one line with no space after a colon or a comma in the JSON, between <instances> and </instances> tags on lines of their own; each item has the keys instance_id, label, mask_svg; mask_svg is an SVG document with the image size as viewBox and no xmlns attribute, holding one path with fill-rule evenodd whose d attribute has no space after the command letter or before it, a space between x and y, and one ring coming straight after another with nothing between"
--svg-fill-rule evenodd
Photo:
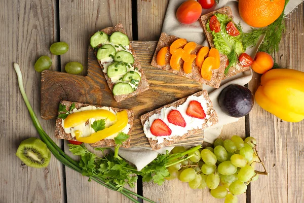
<instances>
[{"instance_id":1,"label":"off-white cloth napkin lying beneath the crispbreads and dark fig","mask_svg":"<svg viewBox=\"0 0 304 203\"><path fill-rule=\"evenodd\" d=\"M177 21L176 10L179 7L179 5L184 1L185 0L171 0L169 2L166 16L164 19L162 32L166 32L170 35L174 35L179 38L185 38L188 41L196 42L198 44L202 44L203 46L208 46L208 43L205 39L205 35L203 32L203 28L201 27L199 22L195 22L191 25L182 25ZM285 14L290 13L301 2L302 0L291 0L285 9ZM208 10L203 9L202 15L207 14L216 9L222 8L224 6L230 6L232 8L234 14L234 21L241 22L243 31L246 32L250 30L250 26L248 26L246 23L242 21L238 11L238 2L235 0L220 0L219 4L215 8L211 8ZM262 39L260 40L259 44L261 43L261 41ZM257 52L257 49L259 47L259 44L252 49L247 49L246 53L248 53L249 55L251 55L251 57L254 58L255 53ZM245 85L251 80L251 78L252 78L252 73L249 70L240 73L234 77L223 80L221 82L221 86L218 89L214 89L207 85L203 85L203 88L207 89L207 91L209 92L209 96L213 103L213 107L219 118L219 122L216 125L205 129L205 133L204 133L205 142L213 143L213 141L219 136L221 128L224 124L236 122L239 120L238 118L228 116L221 111L217 101L217 97L221 92L221 90L226 86L229 86L230 84ZM148 163L153 161L158 156L159 153L164 153L166 152L166 150L171 151L172 149L173 147L165 147L158 151L153 151L151 150L151 148L140 148L140 147L133 147L129 149L120 148L119 155L125 158L126 160L132 162L134 165L136 165L137 170L140 171L144 166L146 166Z\"/></svg>"}]
</instances>

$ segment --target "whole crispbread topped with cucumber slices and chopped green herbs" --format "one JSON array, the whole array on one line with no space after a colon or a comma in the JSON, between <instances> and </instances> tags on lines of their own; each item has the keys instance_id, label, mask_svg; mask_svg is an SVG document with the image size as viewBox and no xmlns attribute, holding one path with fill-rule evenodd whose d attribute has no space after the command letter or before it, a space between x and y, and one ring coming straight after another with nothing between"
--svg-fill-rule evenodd
<instances>
[{"instance_id":1,"label":"whole crispbread topped with cucumber slices and chopped green herbs","mask_svg":"<svg viewBox=\"0 0 304 203\"><path fill-rule=\"evenodd\" d=\"M117 102L149 89L122 24L95 32L90 45Z\"/></svg>"}]
</instances>

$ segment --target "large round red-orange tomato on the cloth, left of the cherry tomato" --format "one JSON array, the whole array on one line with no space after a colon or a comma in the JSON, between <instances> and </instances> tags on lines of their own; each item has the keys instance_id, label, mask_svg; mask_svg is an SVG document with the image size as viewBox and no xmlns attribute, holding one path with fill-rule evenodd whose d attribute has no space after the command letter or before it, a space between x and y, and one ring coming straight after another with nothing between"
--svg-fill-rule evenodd
<instances>
[{"instance_id":1,"label":"large round red-orange tomato on the cloth, left of the cherry tomato","mask_svg":"<svg viewBox=\"0 0 304 203\"><path fill-rule=\"evenodd\" d=\"M188 0L182 3L177 11L176 18L182 24L196 22L202 14L202 6L195 0Z\"/></svg>"}]
</instances>

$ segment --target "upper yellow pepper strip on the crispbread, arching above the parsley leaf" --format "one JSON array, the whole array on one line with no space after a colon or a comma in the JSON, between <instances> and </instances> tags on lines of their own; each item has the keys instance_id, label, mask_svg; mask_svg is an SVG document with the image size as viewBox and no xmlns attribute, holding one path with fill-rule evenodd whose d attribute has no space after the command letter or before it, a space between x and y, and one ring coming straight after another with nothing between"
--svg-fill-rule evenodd
<instances>
[{"instance_id":1,"label":"upper yellow pepper strip on the crispbread, arching above the parsley leaf","mask_svg":"<svg viewBox=\"0 0 304 203\"><path fill-rule=\"evenodd\" d=\"M64 128L75 127L86 122L90 118L95 118L96 120L109 119L110 121L115 121L116 115L104 109L75 112L69 114L66 119L64 119Z\"/></svg>"}]
</instances>

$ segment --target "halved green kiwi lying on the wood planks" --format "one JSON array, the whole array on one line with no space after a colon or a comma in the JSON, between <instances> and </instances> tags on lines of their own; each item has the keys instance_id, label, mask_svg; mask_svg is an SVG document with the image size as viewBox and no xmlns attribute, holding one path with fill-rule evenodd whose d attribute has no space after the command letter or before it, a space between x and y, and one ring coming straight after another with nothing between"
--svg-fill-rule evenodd
<instances>
[{"instance_id":1,"label":"halved green kiwi lying on the wood planks","mask_svg":"<svg viewBox=\"0 0 304 203\"><path fill-rule=\"evenodd\" d=\"M51 159L51 152L47 145L37 138L22 141L16 155L27 166L34 168L47 167Z\"/></svg>"}]
</instances>

